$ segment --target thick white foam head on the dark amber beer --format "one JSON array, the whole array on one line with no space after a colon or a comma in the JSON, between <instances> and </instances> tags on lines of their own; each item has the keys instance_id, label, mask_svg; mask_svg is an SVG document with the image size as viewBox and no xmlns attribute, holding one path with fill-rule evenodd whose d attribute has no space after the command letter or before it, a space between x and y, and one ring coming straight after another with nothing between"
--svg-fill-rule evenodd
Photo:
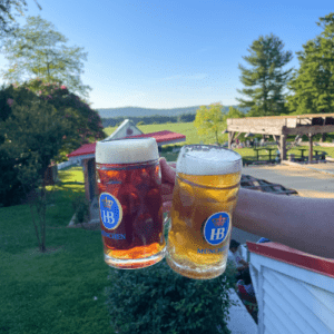
<instances>
[{"instance_id":1,"label":"thick white foam head on the dark amber beer","mask_svg":"<svg viewBox=\"0 0 334 334\"><path fill-rule=\"evenodd\" d=\"M95 159L98 164L135 164L159 158L155 138L97 141Z\"/></svg>"}]
</instances>

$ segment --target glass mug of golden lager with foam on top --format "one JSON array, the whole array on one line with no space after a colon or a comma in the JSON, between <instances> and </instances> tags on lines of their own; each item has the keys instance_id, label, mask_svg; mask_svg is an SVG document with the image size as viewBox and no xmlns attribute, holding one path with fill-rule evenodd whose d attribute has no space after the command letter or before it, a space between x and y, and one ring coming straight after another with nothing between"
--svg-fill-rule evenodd
<instances>
[{"instance_id":1,"label":"glass mug of golden lager with foam on top","mask_svg":"<svg viewBox=\"0 0 334 334\"><path fill-rule=\"evenodd\" d=\"M176 173L167 263L190 278L217 277L226 268L242 157L217 146L184 146Z\"/></svg>"}]
</instances>

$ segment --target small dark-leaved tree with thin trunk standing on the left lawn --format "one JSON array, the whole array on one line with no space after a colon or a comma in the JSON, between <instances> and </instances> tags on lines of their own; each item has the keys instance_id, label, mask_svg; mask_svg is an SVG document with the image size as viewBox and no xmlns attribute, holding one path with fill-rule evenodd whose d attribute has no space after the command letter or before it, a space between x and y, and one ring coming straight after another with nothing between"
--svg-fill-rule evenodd
<instances>
[{"instance_id":1,"label":"small dark-leaved tree with thin trunk standing on the left lawn","mask_svg":"<svg viewBox=\"0 0 334 334\"><path fill-rule=\"evenodd\" d=\"M16 160L13 168L23 191L30 195L29 206L40 252L46 252L47 191L43 175L51 159L59 154L65 136L71 135L66 111L42 100L31 106L11 106L11 115L0 122L4 134L1 150ZM31 193L32 190L32 193Z\"/></svg>"}]
</instances>

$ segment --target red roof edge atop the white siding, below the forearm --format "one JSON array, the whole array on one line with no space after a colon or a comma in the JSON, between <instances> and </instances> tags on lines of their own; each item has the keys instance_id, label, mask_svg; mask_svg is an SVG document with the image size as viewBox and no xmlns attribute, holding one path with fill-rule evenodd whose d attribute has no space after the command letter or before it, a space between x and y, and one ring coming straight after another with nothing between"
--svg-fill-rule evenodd
<instances>
[{"instance_id":1,"label":"red roof edge atop the white siding, below the forearm","mask_svg":"<svg viewBox=\"0 0 334 334\"><path fill-rule=\"evenodd\" d=\"M334 278L334 259L307 254L277 243L247 242L249 252Z\"/></svg>"}]
</instances>

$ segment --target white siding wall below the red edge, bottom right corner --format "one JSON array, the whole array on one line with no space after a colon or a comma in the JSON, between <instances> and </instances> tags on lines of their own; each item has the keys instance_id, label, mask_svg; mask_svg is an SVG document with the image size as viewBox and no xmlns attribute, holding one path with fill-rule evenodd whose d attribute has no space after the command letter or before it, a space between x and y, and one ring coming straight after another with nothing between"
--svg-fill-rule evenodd
<instances>
[{"instance_id":1,"label":"white siding wall below the red edge, bottom right corner","mask_svg":"<svg viewBox=\"0 0 334 334\"><path fill-rule=\"evenodd\" d=\"M259 334L334 333L334 278L250 253Z\"/></svg>"}]
</instances>

